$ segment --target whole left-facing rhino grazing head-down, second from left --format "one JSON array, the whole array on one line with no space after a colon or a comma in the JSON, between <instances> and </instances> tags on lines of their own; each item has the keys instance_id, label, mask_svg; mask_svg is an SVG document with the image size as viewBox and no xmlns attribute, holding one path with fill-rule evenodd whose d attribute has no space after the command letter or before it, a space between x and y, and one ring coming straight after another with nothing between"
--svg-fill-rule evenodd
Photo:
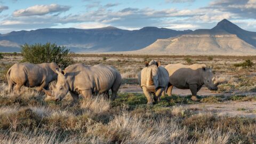
<instances>
[{"instance_id":1,"label":"whole left-facing rhino grazing head-down, second from left","mask_svg":"<svg viewBox=\"0 0 256 144\"><path fill-rule=\"evenodd\" d=\"M56 73L58 81L55 89L51 91L43 89L55 101L62 100L68 92L76 102L79 93L85 98L91 98L92 94L108 94L110 89L111 100L114 100L122 83L122 77L118 70L105 65L75 64L68 66L65 70L57 69Z\"/></svg>"}]
</instances>

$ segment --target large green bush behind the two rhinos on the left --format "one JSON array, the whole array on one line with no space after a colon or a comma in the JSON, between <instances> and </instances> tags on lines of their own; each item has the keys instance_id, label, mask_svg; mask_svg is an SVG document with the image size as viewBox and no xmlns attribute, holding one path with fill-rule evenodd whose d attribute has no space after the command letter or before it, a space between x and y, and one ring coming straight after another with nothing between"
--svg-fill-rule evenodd
<instances>
[{"instance_id":1,"label":"large green bush behind the two rhinos on the left","mask_svg":"<svg viewBox=\"0 0 256 144\"><path fill-rule=\"evenodd\" d=\"M55 43L24 44L21 46L22 62L55 62L63 67L67 67L73 63L73 59L70 57L69 53L69 49L66 49L64 46L57 46Z\"/></svg>"}]
</instances>

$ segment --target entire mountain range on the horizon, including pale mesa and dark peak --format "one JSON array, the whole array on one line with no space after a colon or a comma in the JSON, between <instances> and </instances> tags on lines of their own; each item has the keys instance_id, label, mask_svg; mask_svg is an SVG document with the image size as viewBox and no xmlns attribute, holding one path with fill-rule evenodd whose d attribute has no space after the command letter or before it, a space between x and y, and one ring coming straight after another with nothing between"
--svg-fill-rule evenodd
<instances>
[{"instance_id":1,"label":"entire mountain range on the horizon, including pale mesa and dark peak","mask_svg":"<svg viewBox=\"0 0 256 144\"><path fill-rule=\"evenodd\" d=\"M0 52L19 51L19 45L52 42L73 52L122 52L178 55L256 55L256 32L223 19L212 29L172 30L144 27L124 30L37 29L0 34Z\"/></svg>"}]
</instances>

